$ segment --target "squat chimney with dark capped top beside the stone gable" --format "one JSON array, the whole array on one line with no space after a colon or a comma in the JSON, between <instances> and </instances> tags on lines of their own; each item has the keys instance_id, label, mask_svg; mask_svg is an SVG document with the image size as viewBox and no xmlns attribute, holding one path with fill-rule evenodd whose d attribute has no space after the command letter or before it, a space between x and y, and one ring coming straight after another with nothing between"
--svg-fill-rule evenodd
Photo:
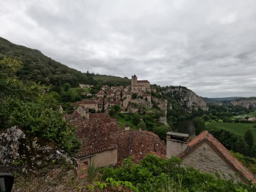
<instances>
[{"instance_id":1,"label":"squat chimney with dark capped top beside the stone gable","mask_svg":"<svg viewBox=\"0 0 256 192\"><path fill-rule=\"evenodd\" d=\"M166 156L170 158L172 156L178 156L188 146L189 134L179 132L167 132L166 133Z\"/></svg>"}]
</instances>

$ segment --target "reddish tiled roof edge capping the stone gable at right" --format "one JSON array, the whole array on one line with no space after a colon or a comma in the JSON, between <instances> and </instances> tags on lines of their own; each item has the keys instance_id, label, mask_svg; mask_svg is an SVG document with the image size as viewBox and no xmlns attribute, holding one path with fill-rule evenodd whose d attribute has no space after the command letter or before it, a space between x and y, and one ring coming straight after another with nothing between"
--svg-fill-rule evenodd
<instances>
[{"instance_id":1,"label":"reddish tiled roof edge capping the stone gable at right","mask_svg":"<svg viewBox=\"0 0 256 192\"><path fill-rule=\"evenodd\" d=\"M218 141L212 134L210 134L208 131L203 131L198 136L196 136L193 140L191 140L188 143L188 148L182 152L179 157L182 159L182 157L186 156L193 148L197 147L200 143L203 141L207 141L218 154L220 154L225 161L227 161L232 168L234 168L241 176L243 179L246 180L252 180L253 183L256 183L255 175L253 175L250 170L248 170L240 161L236 159L228 150L225 148L220 141Z\"/></svg>"}]
</instances>

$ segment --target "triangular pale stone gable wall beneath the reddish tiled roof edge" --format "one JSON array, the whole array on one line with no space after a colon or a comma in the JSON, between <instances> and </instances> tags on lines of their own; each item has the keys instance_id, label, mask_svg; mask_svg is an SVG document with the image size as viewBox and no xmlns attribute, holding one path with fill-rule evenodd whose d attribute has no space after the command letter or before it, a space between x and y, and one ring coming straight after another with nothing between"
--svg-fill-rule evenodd
<instances>
[{"instance_id":1,"label":"triangular pale stone gable wall beneath the reddish tiled roof edge","mask_svg":"<svg viewBox=\"0 0 256 192\"><path fill-rule=\"evenodd\" d=\"M234 180L243 181L241 177L237 176L237 172L206 141L182 157L182 162L202 172L214 174L218 171L221 176L223 173L227 179L230 179L230 175L232 175Z\"/></svg>"}]
</instances>

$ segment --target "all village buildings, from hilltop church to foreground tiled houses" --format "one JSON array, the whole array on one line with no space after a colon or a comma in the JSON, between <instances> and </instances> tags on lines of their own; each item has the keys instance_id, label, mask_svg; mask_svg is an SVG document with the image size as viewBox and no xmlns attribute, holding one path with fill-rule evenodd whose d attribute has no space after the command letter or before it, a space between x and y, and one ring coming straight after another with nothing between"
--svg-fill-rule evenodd
<instances>
[{"instance_id":1,"label":"all village buildings, from hilltop church to foreground tiled houses","mask_svg":"<svg viewBox=\"0 0 256 192\"><path fill-rule=\"evenodd\" d=\"M134 75L131 86L103 86L97 94L98 99L74 104L76 110L71 115L65 115L65 119L78 127L76 136L82 147L76 157L81 170L92 163L100 167L116 166L127 157L132 157L134 163L140 163L147 154L154 154L164 159L178 156L188 166L212 174L218 171L227 179L256 182L253 173L207 131L191 141L188 134L166 132L166 141L163 141L153 132L132 130L129 124L122 130L117 120L108 113L90 113L89 110L106 112L111 106L120 105L122 110L128 111L128 106L136 102L137 97L150 105L150 92L150 83L147 80L138 81ZM134 100L133 94L137 95Z\"/></svg>"}]
</instances>

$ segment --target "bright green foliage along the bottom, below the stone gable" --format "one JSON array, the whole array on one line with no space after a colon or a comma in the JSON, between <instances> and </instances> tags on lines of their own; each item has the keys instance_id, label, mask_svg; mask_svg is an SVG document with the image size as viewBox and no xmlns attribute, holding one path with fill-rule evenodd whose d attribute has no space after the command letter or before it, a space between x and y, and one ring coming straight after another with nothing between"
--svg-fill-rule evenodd
<instances>
[{"instance_id":1,"label":"bright green foliage along the bottom, below the stone gable","mask_svg":"<svg viewBox=\"0 0 256 192\"><path fill-rule=\"evenodd\" d=\"M221 179L209 173L202 173L194 168L184 168L177 157L159 159L148 154L140 164L125 159L122 166L105 168L102 179L127 180L140 191L236 191L247 189L249 185L235 184L233 180Z\"/></svg>"}]
</instances>

